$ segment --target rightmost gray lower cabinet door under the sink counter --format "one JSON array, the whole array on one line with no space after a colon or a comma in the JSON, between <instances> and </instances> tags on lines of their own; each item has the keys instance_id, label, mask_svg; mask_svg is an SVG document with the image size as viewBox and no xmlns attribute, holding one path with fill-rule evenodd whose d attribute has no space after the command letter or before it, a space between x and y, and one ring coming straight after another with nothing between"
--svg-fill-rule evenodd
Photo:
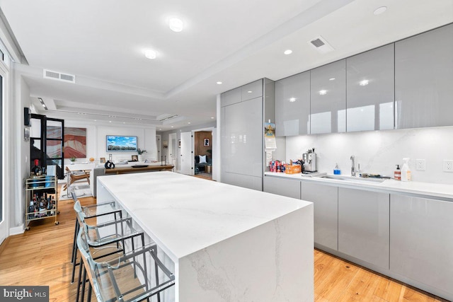
<instances>
[{"instance_id":1,"label":"rightmost gray lower cabinet door under the sink counter","mask_svg":"<svg viewBox=\"0 0 453 302\"><path fill-rule=\"evenodd\" d=\"M453 202L391 194L390 270L453 297Z\"/></svg>"}]
</instances>

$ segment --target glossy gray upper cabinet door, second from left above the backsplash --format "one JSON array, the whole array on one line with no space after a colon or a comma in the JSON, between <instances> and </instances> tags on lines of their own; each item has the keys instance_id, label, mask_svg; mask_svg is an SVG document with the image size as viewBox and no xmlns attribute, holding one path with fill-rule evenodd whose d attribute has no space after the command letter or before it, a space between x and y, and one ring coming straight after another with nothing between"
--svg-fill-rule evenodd
<instances>
[{"instance_id":1,"label":"glossy gray upper cabinet door, second from left above the backsplash","mask_svg":"<svg viewBox=\"0 0 453 302\"><path fill-rule=\"evenodd\" d=\"M311 70L310 133L346 131L346 59Z\"/></svg>"}]
</instances>

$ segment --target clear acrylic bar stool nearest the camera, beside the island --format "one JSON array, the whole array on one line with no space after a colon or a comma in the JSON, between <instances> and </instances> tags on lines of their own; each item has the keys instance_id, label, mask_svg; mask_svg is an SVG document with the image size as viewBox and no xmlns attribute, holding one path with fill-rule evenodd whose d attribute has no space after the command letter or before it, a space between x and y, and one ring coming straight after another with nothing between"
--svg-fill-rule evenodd
<instances>
[{"instance_id":1,"label":"clear acrylic bar stool nearest the camera, beside the island","mask_svg":"<svg viewBox=\"0 0 453 302\"><path fill-rule=\"evenodd\" d=\"M91 290L94 290L98 301L127 301L137 302L157 295L175 284L174 275L165 267L157 257L156 244L142 245L132 248L124 253L117 249L116 253L108 252L109 256L93 257L87 226L79 231L77 245L81 255L83 276L79 274L79 288L77 301L79 301L80 285L82 293L85 291L86 278L88 277L88 301L91 300ZM110 245L115 249L115 245ZM115 255L115 257L112 257ZM152 272L148 272L147 262L154 262L154 279ZM151 266L152 267L152 266ZM163 280L159 281L159 275ZM81 279L83 278L83 279ZM82 281L81 281L82 280ZM82 294L82 301L84 294Z\"/></svg>"}]
</instances>

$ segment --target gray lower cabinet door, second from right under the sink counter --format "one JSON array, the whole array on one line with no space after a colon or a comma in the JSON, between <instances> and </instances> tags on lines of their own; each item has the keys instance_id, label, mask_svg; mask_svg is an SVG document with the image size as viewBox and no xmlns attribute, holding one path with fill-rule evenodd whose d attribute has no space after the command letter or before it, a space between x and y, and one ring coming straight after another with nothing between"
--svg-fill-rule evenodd
<instances>
[{"instance_id":1,"label":"gray lower cabinet door, second from right under the sink counter","mask_svg":"<svg viewBox=\"0 0 453 302\"><path fill-rule=\"evenodd\" d=\"M338 250L389 269L390 196L338 188Z\"/></svg>"}]
</instances>

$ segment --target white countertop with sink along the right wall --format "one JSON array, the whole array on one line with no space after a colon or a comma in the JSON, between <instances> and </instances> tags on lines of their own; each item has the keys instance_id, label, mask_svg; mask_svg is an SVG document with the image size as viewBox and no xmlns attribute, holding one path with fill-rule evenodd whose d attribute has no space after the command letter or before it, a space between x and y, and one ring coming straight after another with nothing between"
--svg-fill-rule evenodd
<instances>
[{"instance_id":1,"label":"white countertop with sink along the right wall","mask_svg":"<svg viewBox=\"0 0 453 302\"><path fill-rule=\"evenodd\" d=\"M346 187L357 187L357 188L362 187L372 190L386 190L389 192L418 194L428 197L441 197L453 199L453 185L444 185L431 182L413 182L413 181L402 182L393 179L384 180L383 182L374 182L369 180L363 180L360 178L359 179L352 178L351 176L348 175L331 175L331 174L327 175L345 177L346 180L321 178L318 176L314 177L302 176L300 173L286 174L286 173L265 172L265 175L326 184L330 183Z\"/></svg>"}]
</instances>

